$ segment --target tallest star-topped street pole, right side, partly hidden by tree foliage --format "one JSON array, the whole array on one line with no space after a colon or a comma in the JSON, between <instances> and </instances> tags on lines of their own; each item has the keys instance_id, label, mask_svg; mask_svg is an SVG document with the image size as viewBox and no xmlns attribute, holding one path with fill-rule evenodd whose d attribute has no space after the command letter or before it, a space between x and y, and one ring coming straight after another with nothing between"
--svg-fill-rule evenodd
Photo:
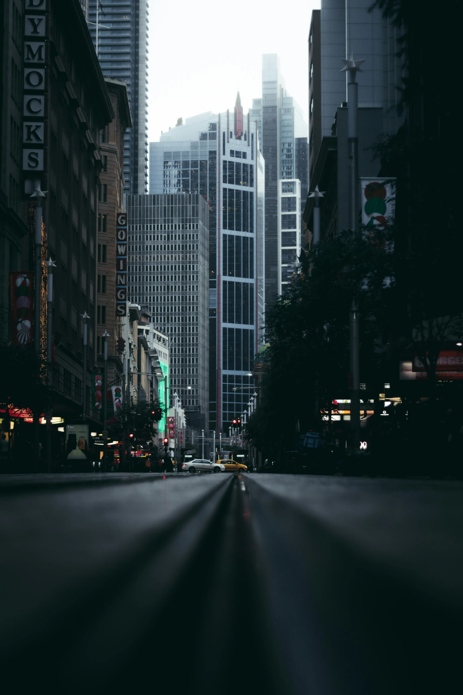
<instances>
[{"instance_id":1,"label":"tallest star-topped street pole, right side, partly hidden by tree foliage","mask_svg":"<svg viewBox=\"0 0 463 695\"><path fill-rule=\"evenodd\" d=\"M348 199L349 228L358 231L359 178L358 178L358 85L355 81L362 60L343 58L345 63L341 72L348 72L347 83L347 148L348 148ZM360 70L362 72L362 70ZM352 375L351 388L351 431L353 448L360 447L360 354L359 354L359 315L357 299L354 297L349 316L349 344Z\"/></svg>"}]
</instances>

